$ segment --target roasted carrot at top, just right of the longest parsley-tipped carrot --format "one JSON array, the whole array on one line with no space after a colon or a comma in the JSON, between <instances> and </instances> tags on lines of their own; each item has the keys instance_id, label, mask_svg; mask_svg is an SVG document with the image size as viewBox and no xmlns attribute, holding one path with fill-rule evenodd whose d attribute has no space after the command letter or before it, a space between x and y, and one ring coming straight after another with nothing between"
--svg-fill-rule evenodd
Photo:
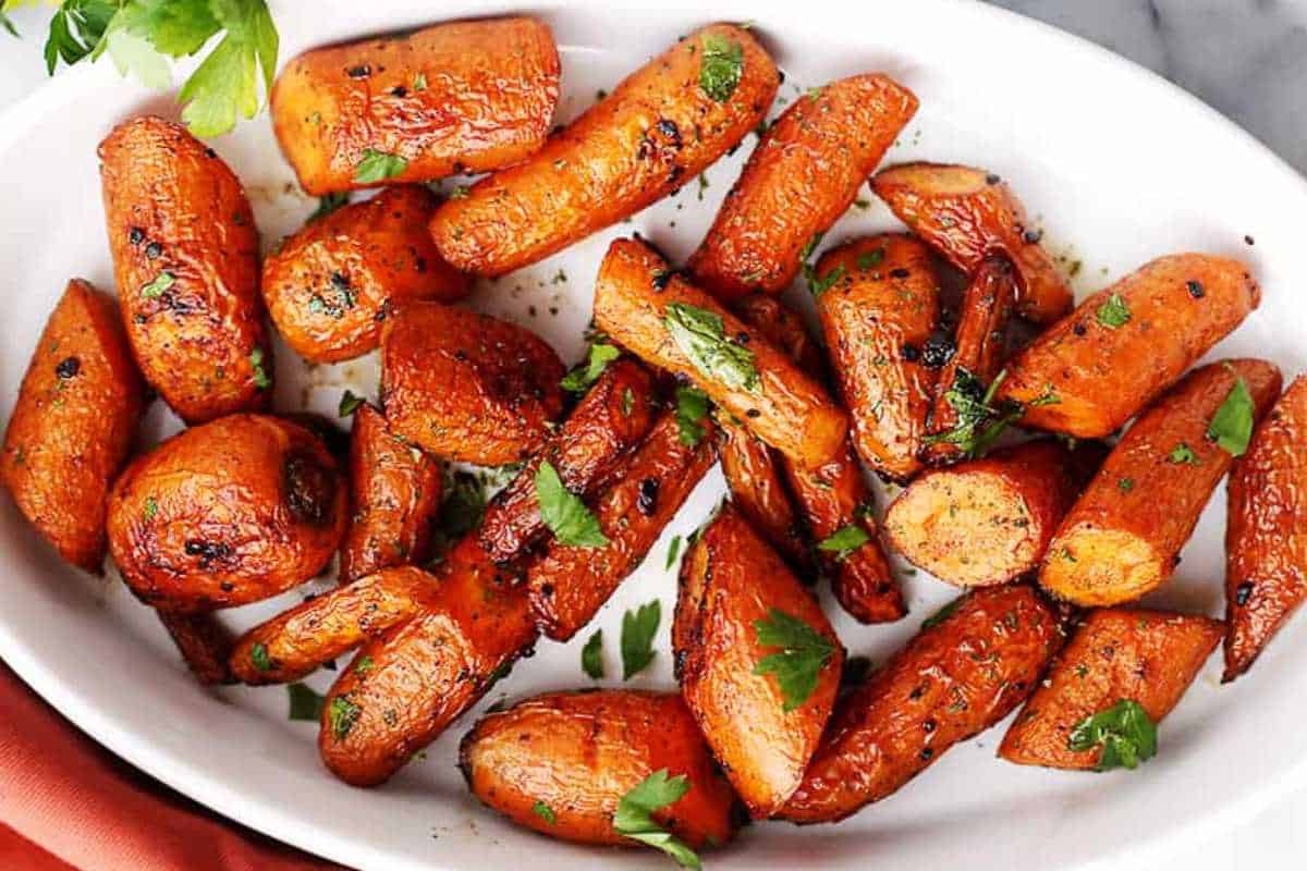
<instances>
[{"instance_id":1,"label":"roasted carrot at top, just right of the longest parsley-tipped carrot","mask_svg":"<svg viewBox=\"0 0 1307 871\"><path fill-rule=\"evenodd\" d=\"M788 287L809 240L852 205L916 106L912 91L880 73L796 99L758 140L690 256L694 282L724 302Z\"/></svg>"}]
</instances>

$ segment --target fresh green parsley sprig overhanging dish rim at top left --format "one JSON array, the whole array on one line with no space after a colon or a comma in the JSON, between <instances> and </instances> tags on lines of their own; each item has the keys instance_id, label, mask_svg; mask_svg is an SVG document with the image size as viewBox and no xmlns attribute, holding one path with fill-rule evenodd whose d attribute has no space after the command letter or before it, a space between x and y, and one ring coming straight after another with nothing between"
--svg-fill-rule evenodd
<instances>
[{"instance_id":1,"label":"fresh green parsley sprig overhanging dish rim at top left","mask_svg":"<svg viewBox=\"0 0 1307 871\"><path fill-rule=\"evenodd\" d=\"M173 86L171 60L221 35L178 91L182 120L196 136L221 136L259 111L259 73L272 89L278 37L265 0L64 0L50 22L46 68L99 60L149 87Z\"/></svg>"}]
</instances>

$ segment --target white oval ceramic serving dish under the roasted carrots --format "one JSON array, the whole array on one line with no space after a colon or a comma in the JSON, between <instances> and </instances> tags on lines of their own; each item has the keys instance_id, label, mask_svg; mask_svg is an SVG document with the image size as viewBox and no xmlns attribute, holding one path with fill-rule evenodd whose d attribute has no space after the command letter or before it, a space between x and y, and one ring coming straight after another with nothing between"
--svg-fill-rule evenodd
<instances>
[{"instance_id":1,"label":"white oval ceramic serving dish under the roasted carrots","mask_svg":"<svg viewBox=\"0 0 1307 871\"><path fill-rule=\"evenodd\" d=\"M417 0L365 8L274 4L284 59L323 42L512 8L463 3L435 10ZM1002 174L1038 217L1053 252L1082 262L1076 278L1081 293L1170 251L1247 257L1263 279L1264 306L1218 353L1269 356L1286 375L1307 364L1307 304L1299 289L1307 281L1307 252L1298 240L1307 184L1213 111L1098 48L950 0L874 9L725 1L714 5L711 18L684 0L644 10L548 3L532 9L550 21L563 47L561 120L588 104L599 87L612 87L626 71L711 18L757 21L789 74L782 89L787 99L835 76L885 69L921 98L921 112L889 161L962 161ZM94 145L115 121L146 110L171 111L158 95L124 86L102 65L65 73L0 120L0 166L7 167L0 262L12 300L0 323L5 406L67 278L85 276L111 286ZM606 242L639 230L673 256L687 253L752 144L750 137L733 159L710 168L706 188L691 182L630 225L486 283L477 306L531 325L575 359L589 283ZM214 148L246 182L265 243L311 210L277 155L267 116ZM891 226L887 213L873 205L852 210L830 239ZM1246 235L1256 244L1246 244ZM791 296L801 300L799 293ZM531 306L536 317L528 313ZM550 307L558 313L550 315ZM286 409L331 411L344 387L375 394L370 359L307 372L282 347L277 367L277 398ZM150 434L173 427L156 407ZM714 474L668 535L697 526L719 494ZM1219 611L1221 501L1219 495L1213 500L1176 580L1155 602ZM667 862L646 851L554 844L478 807L452 767L471 717L386 787L342 786L318 763L314 727L286 722L282 689L197 691L153 618L120 584L60 565L8 503L0 508L0 656L111 750L242 823L369 868L510 867L525 857L541 870ZM642 687L672 686L667 631L674 586L663 571L665 539L596 620L605 629L612 674L622 611L663 599L668 618L657 639L656 669L631 682ZM907 586L914 611L893 627L857 627L831 609L851 652L884 661L953 594L920 575L907 578ZM274 606L243 609L230 620L243 627ZM578 662L583 640L567 646L542 642L494 697L588 684ZM715 868L868 862L1047 868L1153 854L1249 815L1307 780L1307 735L1299 726L1307 705L1304 657L1307 637L1289 635L1247 678L1225 688L1217 686L1213 659L1163 725L1159 757L1141 772L1085 776L1013 767L992 756L1000 726L954 748L901 794L844 824L754 825L707 861ZM322 688L329 678L323 673L311 683Z\"/></svg>"}]
</instances>

